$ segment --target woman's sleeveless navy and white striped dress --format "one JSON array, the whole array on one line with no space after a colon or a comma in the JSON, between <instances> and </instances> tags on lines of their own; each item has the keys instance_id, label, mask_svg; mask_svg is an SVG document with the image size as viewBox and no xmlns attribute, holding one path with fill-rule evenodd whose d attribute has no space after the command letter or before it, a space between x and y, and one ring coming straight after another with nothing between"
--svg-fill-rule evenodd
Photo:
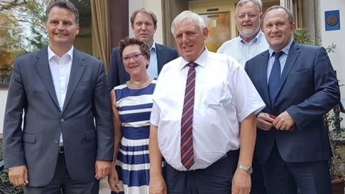
<instances>
[{"instance_id":1,"label":"woman's sleeveless navy and white striped dress","mask_svg":"<svg viewBox=\"0 0 345 194\"><path fill-rule=\"evenodd\" d=\"M148 194L149 119L155 85L153 79L142 89L129 89L126 84L114 88L123 133L115 167L120 179L119 194Z\"/></svg>"}]
</instances>

